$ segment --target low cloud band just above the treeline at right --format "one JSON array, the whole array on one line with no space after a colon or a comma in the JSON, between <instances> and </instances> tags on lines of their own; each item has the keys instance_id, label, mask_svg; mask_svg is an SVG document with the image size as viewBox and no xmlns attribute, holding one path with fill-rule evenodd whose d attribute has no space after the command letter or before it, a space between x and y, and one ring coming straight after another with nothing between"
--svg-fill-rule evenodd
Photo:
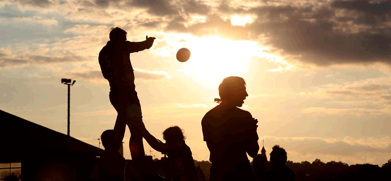
<instances>
[{"instance_id":1,"label":"low cloud band just above the treeline at right","mask_svg":"<svg viewBox=\"0 0 391 181\"><path fill-rule=\"evenodd\" d=\"M260 135L261 137L261 135ZM288 160L312 162L316 158L323 162L331 160L348 164L364 162L364 151L367 162L382 165L389 159L391 140L389 137L366 138L321 138L321 137L273 137L262 136L265 139L265 149L270 153L271 147L279 144L288 152ZM262 139L260 139L262 145ZM268 154L267 154L268 155ZM269 156L268 156L269 157ZM378 158L378 159L375 159Z\"/></svg>"}]
</instances>

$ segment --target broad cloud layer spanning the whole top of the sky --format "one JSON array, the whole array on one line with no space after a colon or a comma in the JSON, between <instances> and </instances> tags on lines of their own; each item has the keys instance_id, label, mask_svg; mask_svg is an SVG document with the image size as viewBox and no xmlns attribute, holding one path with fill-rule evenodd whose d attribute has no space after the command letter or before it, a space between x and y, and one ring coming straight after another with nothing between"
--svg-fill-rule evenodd
<instances>
[{"instance_id":1,"label":"broad cloud layer spanning the whole top of the sky","mask_svg":"<svg viewBox=\"0 0 391 181\"><path fill-rule=\"evenodd\" d=\"M270 47L269 53L290 63L329 66L390 63L391 12L386 10L389 2L279 1L243 5L234 1L94 0L56 4L38 0L20 1L34 4L20 5L20 8L56 12L63 18L33 19L47 26L69 26L72 22L120 25L132 30L129 34L154 30L219 35L226 39L258 41ZM195 15L202 16L202 21L194 21ZM290 68L269 71L287 69Z\"/></svg>"}]
</instances>

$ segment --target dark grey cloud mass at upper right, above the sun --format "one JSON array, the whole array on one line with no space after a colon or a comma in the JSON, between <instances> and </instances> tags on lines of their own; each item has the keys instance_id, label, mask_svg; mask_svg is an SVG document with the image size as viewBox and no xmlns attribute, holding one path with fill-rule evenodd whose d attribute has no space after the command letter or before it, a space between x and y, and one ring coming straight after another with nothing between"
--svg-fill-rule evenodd
<instances>
[{"instance_id":1,"label":"dark grey cloud mass at upper right, above the sun","mask_svg":"<svg viewBox=\"0 0 391 181\"><path fill-rule=\"evenodd\" d=\"M391 63L388 2L335 1L301 7L285 4L234 8L228 1L222 1L216 14L207 14L206 22L186 28L187 18L178 15L165 30L235 40L264 37L260 43L271 47L272 53L280 52L287 60L318 66ZM341 11L344 9L348 11ZM246 26L233 26L230 19L221 18L233 14L255 14L257 18ZM368 14L378 22L373 24Z\"/></svg>"}]
</instances>

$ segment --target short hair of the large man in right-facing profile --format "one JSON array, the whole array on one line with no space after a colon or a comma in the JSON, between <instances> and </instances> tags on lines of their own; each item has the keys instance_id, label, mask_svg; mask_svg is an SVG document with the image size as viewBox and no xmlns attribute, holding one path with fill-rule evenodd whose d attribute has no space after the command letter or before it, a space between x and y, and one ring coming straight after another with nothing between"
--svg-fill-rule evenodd
<instances>
[{"instance_id":1,"label":"short hair of the large man in right-facing profile","mask_svg":"<svg viewBox=\"0 0 391 181\"><path fill-rule=\"evenodd\" d=\"M242 77L230 76L222 80L219 85L219 95L221 100L225 100L227 97L237 91L238 87L246 86L246 82Z\"/></svg>"}]
</instances>

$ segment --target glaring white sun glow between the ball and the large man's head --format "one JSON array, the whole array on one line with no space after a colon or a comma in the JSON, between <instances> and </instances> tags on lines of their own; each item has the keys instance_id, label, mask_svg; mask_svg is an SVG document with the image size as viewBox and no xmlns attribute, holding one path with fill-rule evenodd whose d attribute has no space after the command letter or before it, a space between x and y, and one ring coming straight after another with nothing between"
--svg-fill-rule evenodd
<instances>
[{"instance_id":1,"label":"glaring white sun glow between the ball and the large man's head","mask_svg":"<svg viewBox=\"0 0 391 181\"><path fill-rule=\"evenodd\" d=\"M184 69L192 78L213 88L228 76L245 76L251 57L259 50L256 42L227 40L217 36L200 37L188 42L190 59Z\"/></svg>"}]
</instances>

